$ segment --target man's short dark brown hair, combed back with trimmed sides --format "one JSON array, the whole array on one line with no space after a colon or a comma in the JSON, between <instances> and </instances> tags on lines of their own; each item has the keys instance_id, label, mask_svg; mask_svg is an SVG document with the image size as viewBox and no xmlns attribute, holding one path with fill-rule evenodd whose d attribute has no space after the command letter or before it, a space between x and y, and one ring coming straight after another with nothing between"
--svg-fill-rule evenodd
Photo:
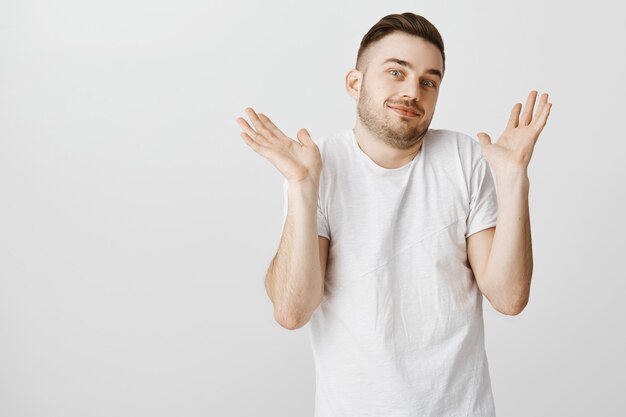
<instances>
[{"instance_id":1,"label":"man's short dark brown hair, combed back with trimmed sides","mask_svg":"<svg viewBox=\"0 0 626 417\"><path fill-rule=\"evenodd\" d=\"M356 69L361 71L361 67L365 65L362 62L362 56L368 46L394 32L404 32L409 35L419 36L435 45L441 52L443 71L446 71L446 55L443 51L443 39L439 31L425 17L411 12L387 15L372 26L361 40L361 46L356 55Z\"/></svg>"}]
</instances>

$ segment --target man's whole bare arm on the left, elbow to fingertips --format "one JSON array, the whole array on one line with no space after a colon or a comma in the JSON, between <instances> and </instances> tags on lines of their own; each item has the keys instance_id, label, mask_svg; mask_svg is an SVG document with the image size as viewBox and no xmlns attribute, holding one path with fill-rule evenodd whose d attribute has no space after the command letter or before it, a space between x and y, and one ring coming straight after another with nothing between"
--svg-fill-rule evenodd
<instances>
[{"instance_id":1,"label":"man's whole bare arm on the left, elbow to fingertips","mask_svg":"<svg viewBox=\"0 0 626 417\"><path fill-rule=\"evenodd\" d=\"M254 129L243 118L237 123L241 138L269 160L285 177L288 210L278 251L265 278L265 289L281 326L304 326L324 296L328 243L317 237L317 200L323 167L319 147L309 132L298 131L298 141L285 135L269 117L246 108ZM320 252L323 256L320 256ZM322 259L323 258L323 259Z\"/></svg>"}]
</instances>

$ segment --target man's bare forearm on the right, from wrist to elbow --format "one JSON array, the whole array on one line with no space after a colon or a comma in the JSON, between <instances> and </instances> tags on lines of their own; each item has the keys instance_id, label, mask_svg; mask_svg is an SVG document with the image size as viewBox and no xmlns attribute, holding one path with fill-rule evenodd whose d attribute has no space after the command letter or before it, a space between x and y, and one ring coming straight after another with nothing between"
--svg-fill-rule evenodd
<instances>
[{"instance_id":1,"label":"man's bare forearm on the right, from wrist to elbow","mask_svg":"<svg viewBox=\"0 0 626 417\"><path fill-rule=\"evenodd\" d=\"M489 300L500 311L519 313L528 303L533 270L526 170L496 175L498 220L485 276Z\"/></svg>"}]
</instances>

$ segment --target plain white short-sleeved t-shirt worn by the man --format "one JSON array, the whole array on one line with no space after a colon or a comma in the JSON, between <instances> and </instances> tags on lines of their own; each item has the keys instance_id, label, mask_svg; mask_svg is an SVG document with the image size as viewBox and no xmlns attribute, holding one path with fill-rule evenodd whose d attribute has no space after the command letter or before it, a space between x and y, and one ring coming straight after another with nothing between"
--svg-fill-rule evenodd
<instances>
[{"instance_id":1,"label":"plain white short-sleeved t-shirt worn by the man","mask_svg":"<svg viewBox=\"0 0 626 417\"><path fill-rule=\"evenodd\" d=\"M387 169L352 129L314 142L324 163L317 230L330 239L308 323L315 417L495 416L465 240L496 225L479 143L429 129L409 164Z\"/></svg>"}]
</instances>

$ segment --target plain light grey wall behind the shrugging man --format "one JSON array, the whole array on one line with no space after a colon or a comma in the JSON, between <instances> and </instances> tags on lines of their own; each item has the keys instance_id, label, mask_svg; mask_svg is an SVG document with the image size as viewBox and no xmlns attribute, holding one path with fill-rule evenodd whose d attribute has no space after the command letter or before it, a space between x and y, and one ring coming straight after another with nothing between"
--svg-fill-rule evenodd
<instances>
[{"instance_id":1,"label":"plain light grey wall behind the shrugging man","mask_svg":"<svg viewBox=\"0 0 626 417\"><path fill-rule=\"evenodd\" d=\"M0 415L311 416L308 326L263 279L282 176L239 137L352 127L343 87L388 13L441 31L432 127L497 138L550 93L519 316L485 300L500 416L619 416L622 14L608 0L0 1Z\"/></svg>"}]
</instances>

